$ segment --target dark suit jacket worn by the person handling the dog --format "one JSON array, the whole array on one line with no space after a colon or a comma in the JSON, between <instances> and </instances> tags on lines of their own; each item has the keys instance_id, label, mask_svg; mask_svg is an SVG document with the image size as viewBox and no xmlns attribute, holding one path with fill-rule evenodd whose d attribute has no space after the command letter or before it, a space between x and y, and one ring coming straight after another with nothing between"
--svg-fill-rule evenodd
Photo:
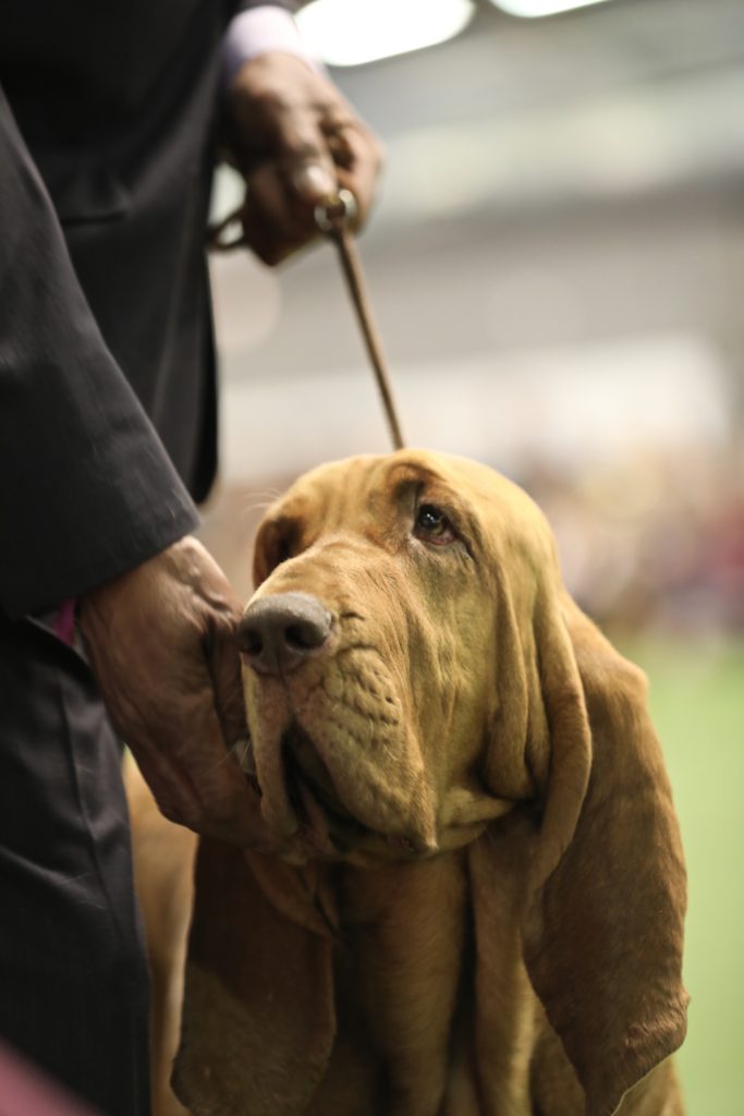
<instances>
[{"instance_id":1,"label":"dark suit jacket worn by the person handling the dog","mask_svg":"<svg viewBox=\"0 0 744 1116\"><path fill-rule=\"evenodd\" d=\"M151 557L192 529L191 497L209 491L204 227L220 42L238 8L258 6L3 0L0 607L10 616Z\"/></svg>"}]
</instances>

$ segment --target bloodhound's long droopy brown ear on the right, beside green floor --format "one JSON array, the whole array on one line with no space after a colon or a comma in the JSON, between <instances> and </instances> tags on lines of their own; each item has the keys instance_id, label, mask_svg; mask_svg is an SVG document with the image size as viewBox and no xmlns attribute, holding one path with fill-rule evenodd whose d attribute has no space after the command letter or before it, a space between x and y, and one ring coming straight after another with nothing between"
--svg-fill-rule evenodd
<instances>
[{"instance_id":1,"label":"bloodhound's long droopy brown ear on the right, beside green floor","mask_svg":"<svg viewBox=\"0 0 744 1116\"><path fill-rule=\"evenodd\" d=\"M587 1116L610 1116L685 1037L685 870L641 672L568 596L543 604L550 771L524 960Z\"/></svg>"}]
</instances>

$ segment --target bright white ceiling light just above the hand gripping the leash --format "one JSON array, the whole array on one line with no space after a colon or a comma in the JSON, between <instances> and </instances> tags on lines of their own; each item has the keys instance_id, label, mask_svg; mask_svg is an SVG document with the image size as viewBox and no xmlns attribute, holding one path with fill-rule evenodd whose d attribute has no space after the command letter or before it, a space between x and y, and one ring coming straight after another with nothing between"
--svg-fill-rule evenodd
<instances>
[{"instance_id":1,"label":"bright white ceiling light just above the hand gripping the leash","mask_svg":"<svg viewBox=\"0 0 744 1116\"><path fill-rule=\"evenodd\" d=\"M474 12L472 0L315 0L297 22L329 66L360 66L452 39Z\"/></svg>"}]
</instances>

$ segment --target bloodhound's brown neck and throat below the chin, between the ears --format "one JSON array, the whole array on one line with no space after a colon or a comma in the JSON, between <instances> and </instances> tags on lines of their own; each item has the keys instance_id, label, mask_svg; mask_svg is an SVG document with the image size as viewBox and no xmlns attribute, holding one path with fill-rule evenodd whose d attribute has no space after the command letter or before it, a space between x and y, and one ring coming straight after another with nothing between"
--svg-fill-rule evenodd
<instances>
[{"instance_id":1,"label":"bloodhound's brown neck and throat below the chin, between the ears","mask_svg":"<svg viewBox=\"0 0 744 1116\"><path fill-rule=\"evenodd\" d=\"M491 1112L477 1099L483 1088L494 1110L529 1110L523 1051L535 1001L511 845L486 833L466 848L378 867L250 858L274 908L331 946L335 1039L307 1116L481 1116Z\"/></svg>"}]
</instances>

